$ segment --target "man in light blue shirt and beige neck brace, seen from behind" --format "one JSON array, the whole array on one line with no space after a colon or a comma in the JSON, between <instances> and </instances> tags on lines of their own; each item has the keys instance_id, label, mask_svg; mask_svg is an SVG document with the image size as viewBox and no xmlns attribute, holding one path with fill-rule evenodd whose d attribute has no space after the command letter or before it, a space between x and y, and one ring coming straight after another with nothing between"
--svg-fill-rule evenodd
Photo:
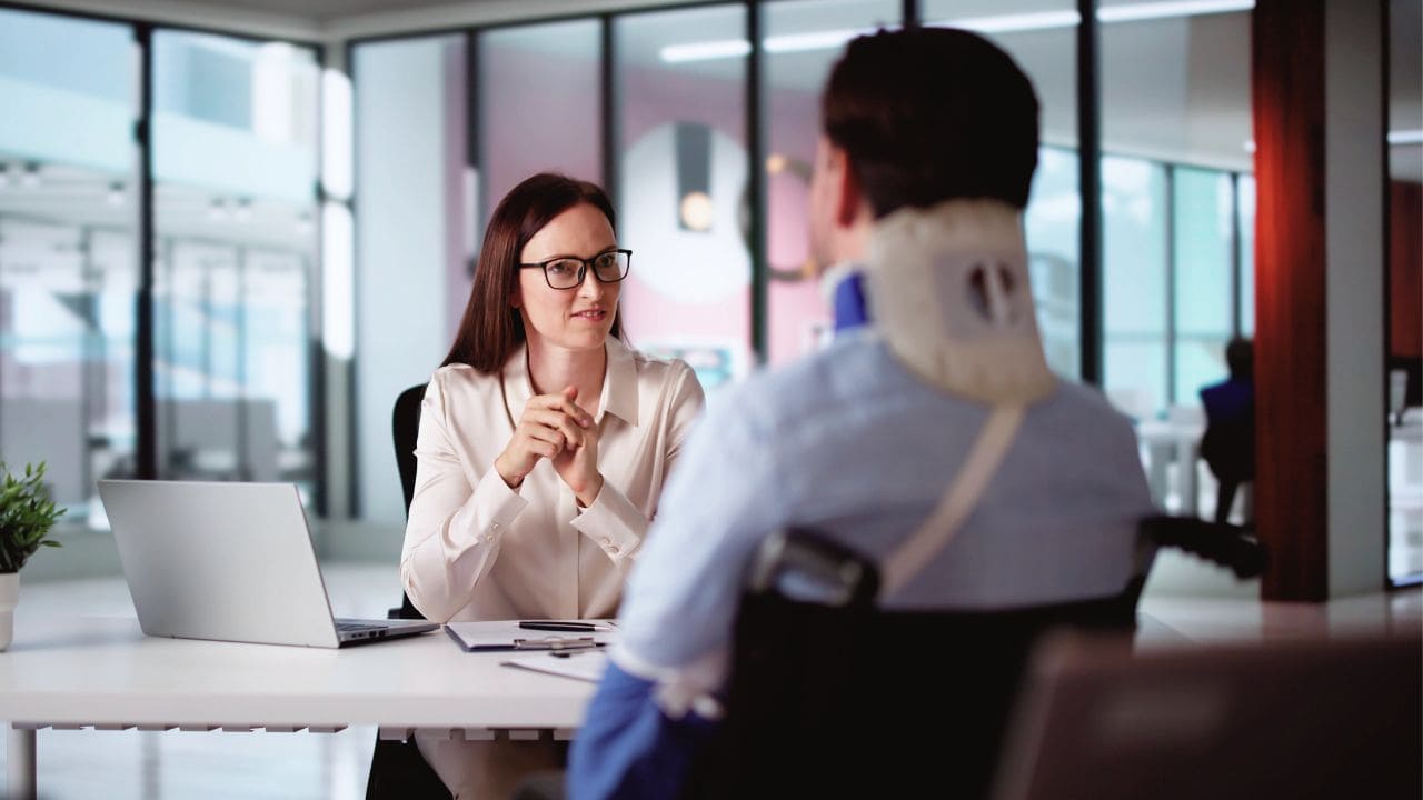
<instances>
[{"instance_id":1,"label":"man in light blue shirt and beige neck brace, seen from behind","mask_svg":"<svg viewBox=\"0 0 1423 800\"><path fill-rule=\"evenodd\" d=\"M879 559L888 608L1099 598L1140 568L1151 502L1136 436L1096 391L1052 377L1033 320L1027 78L965 31L859 37L821 131L814 253L862 265L869 325L712 399L625 592L572 752L575 797L676 794L716 725L746 567L778 528ZM941 502L959 484L966 505Z\"/></svg>"}]
</instances>

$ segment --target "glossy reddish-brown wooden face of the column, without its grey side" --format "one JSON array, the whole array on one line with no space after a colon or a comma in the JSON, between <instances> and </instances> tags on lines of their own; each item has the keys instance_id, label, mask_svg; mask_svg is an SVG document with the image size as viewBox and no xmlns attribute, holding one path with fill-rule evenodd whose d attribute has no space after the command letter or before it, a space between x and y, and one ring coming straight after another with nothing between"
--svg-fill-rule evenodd
<instances>
[{"instance_id":1,"label":"glossy reddish-brown wooden face of the column, without its grey side","mask_svg":"<svg viewBox=\"0 0 1423 800\"><path fill-rule=\"evenodd\" d=\"M1322 0L1258 0L1255 420L1264 599L1329 592L1325 406L1325 60Z\"/></svg>"}]
</instances>

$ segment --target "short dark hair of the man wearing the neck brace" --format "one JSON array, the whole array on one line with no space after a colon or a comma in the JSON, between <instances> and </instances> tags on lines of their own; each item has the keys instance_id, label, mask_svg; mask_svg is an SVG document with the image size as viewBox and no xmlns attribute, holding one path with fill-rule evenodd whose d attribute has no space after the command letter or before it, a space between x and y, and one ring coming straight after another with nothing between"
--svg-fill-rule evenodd
<instances>
[{"instance_id":1,"label":"short dark hair of the man wearing the neck brace","mask_svg":"<svg viewBox=\"0 0 1423 800\"><path fill-rule=\"evenodd\" d=\"M953 198L1027 205L1037 97L1017 64L955 28L879 31L850 43L821 98L875 218Z\"/></svg>"}]
</instances>

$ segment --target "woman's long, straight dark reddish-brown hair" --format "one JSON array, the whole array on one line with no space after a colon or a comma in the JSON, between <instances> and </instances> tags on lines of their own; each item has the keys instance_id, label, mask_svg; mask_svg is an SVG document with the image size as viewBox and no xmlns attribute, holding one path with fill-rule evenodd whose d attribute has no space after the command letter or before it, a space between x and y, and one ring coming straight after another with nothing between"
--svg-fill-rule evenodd
<instances>
[{"instance_id":1,"label":"woman's long, straight dark reddish-brown hair","mask_svg":"<svg viewBox=\"0 0 1423 800\"><path fill-rule=\"evenodd\" d=\"M519 256L524 245L555 216L579 204L603 212L616 231L613 204L596 184L554 172L539 172L509 189L494 209L484 231L484 246L474 268L474 286L464 306L460 330L450 354L440 366L470 364L494 374L504 367L528 335L524 319L509 306L518 286ZM612 336L622 335L620 313L613 313Z\"/></svg>"}]
</instances>

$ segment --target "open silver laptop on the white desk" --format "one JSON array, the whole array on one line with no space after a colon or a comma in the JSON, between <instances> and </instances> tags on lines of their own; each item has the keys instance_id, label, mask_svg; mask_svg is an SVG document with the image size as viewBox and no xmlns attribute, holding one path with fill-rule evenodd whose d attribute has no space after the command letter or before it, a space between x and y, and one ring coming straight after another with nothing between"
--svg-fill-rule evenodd
<instances>
[{"instance_id":1,"label":"open silver laptop on the white desk","mask_svg":"<svg viewBox=\"0 0 1423 800\"><path fill-rule=\"evenodd\" d=\"M98 481L148 636L340 648L440 628L333 619L293 484Z\"/></svg>"}]
</instances>

